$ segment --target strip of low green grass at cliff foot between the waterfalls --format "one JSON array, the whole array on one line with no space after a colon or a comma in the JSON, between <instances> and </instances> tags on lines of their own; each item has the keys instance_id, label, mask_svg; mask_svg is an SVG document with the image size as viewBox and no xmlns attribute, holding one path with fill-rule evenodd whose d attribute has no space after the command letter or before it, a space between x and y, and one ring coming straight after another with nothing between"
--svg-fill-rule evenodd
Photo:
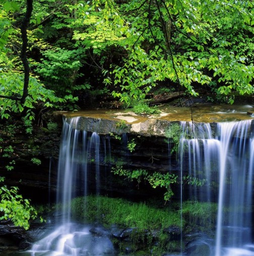
<instances>
[{"instance_id":1,"label":"strip of low green grass at cliff foot between the waterfalls","mask_svg":"<svg viewBox=\"0 0 254 256\"><path fill-rule=\"evenodd\" d=\"M77 197L72 200L74 218L86 222L99 222L106 227L117 224L138 229L160 229L180 225L180 216L169 209L161 210L120 198L106 196Z\"/></svg>"}]
</instances>

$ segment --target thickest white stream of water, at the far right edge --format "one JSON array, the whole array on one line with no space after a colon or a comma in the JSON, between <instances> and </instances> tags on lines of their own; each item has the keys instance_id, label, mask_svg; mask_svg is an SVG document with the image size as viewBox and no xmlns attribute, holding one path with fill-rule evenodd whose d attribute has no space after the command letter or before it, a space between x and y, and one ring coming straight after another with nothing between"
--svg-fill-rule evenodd
<instances>
[{"instance_id":1,"label":"thickest white stream of water, at the far right edge","mask_svg":"<svg viewBox=\"0 0 254 256\"><path fill-rule=\"evenodd\" d=\"M216 256L250 255L252 186L250 121L220 123L220 180ZM253 135L252 135L253 136ZM229 209L229 215L224 214ZM227 246L225 252L222 246ZM254 252L251 253L254 255Z\"/></svg>"}]
</instances>

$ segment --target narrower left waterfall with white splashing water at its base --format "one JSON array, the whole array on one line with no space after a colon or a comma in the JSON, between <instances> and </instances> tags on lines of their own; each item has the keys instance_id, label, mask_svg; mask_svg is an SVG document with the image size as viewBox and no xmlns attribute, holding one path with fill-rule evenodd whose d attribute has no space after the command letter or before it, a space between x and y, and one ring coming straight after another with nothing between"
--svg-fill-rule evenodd
<instances>
[{"instance_id":1,"label":"narrower left waterfall with white splashing water at its base","mask_svg":"<svg viewBox=\"0 0 254 256\"><path fill-rule=\"evenodd\" d=\"M62 218L51 234L27 251L31 256L115 255L107 237L93 237L89 232L91 227L71 222L71 199L88 194L89 164L94 169L95 193L99 193L100 187L100 136L76 130L78 121L78 117L72 118L70 124L63 122L62 128L57 179L57 201L62 204Z\"/></svg>"}]
</instances>

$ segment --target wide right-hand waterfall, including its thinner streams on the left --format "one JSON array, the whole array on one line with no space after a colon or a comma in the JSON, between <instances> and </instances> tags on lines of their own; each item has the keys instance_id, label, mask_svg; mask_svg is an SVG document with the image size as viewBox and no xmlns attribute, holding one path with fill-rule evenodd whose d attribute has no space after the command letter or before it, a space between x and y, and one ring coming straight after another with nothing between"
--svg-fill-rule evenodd
<instances>
[{"instance_id":1,"label":"wide right-hand waterfall, including its thinner streams on the left","mask_svg":"<svg viewBox=\"0 0 254 256\"><path fill-rule=\"evenodd\" d=\"M209 124L182 122L182 127L185 132L181 139L181 170L188 171L185 175L194 183L206 183L203 188L190 187L189 199L218 202L215 249L211 256L254 255L251 121L218 123L213 136ZM184 157L188 161L183 161ZM218 190L213 191L211 184L218 184Z\"/></svg>"}]
</instances>

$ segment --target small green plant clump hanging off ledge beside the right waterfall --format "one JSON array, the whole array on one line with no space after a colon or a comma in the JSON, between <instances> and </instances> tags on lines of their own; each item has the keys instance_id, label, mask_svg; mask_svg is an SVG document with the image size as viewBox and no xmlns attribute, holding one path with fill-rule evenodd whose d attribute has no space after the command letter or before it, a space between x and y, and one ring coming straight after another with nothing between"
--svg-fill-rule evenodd
<instances>
[{"instance_id":1,"label":"small green plant clump hanging off ledge beside the right waterfall","mask_svg":"<svg viewBox=\"0 0 254 256\"><path fill-rule=\"evenodd\" d=\"M171 123L170 126L165 130L165 137L174 144L171 148L171 153L178 152L181 134L181 126L178 123Z\"/></svg>"}]
</instances>

